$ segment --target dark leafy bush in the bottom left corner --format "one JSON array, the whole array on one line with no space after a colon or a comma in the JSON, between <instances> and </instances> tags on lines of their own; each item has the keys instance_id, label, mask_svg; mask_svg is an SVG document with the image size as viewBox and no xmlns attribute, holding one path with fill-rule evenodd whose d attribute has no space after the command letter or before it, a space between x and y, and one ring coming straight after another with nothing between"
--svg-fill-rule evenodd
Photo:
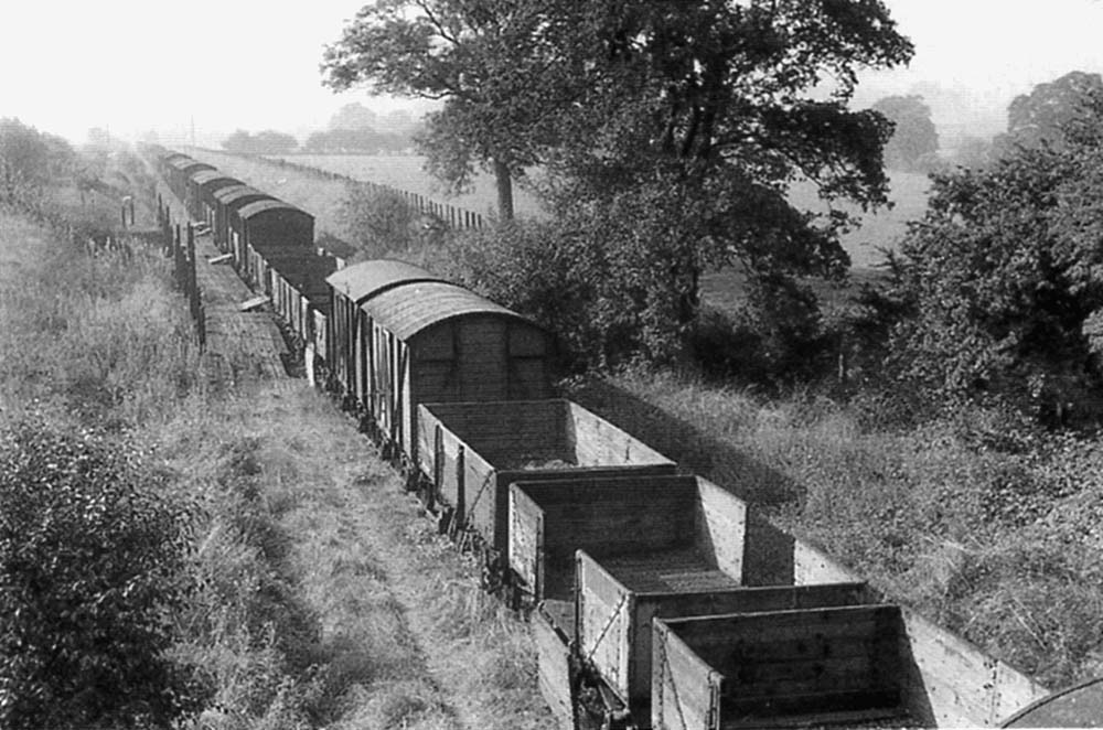
<instances>
[{"instance_id":1,"label":"dark leafy bush in the bottom left corner","mask_svg":"<svg viewBox=\"0 0 1103 730\"><path fill-rule=\"evenodd\" d=\"M30 420L0 444L0 723L167 726L194 701L165 656L186 511L126 443Z\"/></svg>"}]
</instances>

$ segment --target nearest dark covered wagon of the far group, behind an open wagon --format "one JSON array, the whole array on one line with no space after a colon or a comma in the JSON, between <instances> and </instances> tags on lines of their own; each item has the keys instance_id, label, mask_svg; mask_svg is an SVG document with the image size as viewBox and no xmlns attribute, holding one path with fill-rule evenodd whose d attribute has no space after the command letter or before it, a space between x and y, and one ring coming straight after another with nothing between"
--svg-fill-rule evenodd
<instances>
[{"instance_id":1,"label":"nearest dark covered wagon of the far group, behind an open wagon","mask_svg":"<svg viewBox=\"0 0 1103 730\"><path fill-rule=\"evenodd\" d=\"M246 203L231 214L231 227L234 262L253 286L264 285L257 273L263 256L278 249L314 250L314 216L283 201Z\"/></svg>"}]
</instances>

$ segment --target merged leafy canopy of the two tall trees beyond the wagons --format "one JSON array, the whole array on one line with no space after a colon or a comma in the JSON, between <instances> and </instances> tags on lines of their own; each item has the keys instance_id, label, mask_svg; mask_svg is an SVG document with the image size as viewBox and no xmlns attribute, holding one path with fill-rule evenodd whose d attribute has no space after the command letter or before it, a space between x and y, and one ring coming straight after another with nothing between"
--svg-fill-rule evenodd
<instances>
[{"instance_id":1,"label":"merged leafy canopy of the two tall trees beyond the wagons","mask_svg":"<svg viewBox=\"0 0 1103 730\"><path fill-rule=\"evenodd\" d=\"M705 267L842 275L849 221L794 208L797 179L827 201L886 200L886 119L847 103L864 67L911 44L880 0L377 0L325 53L325 83L445 100L428 120L430 167L453 182L475 163L558 213L649 249L615 276L660 291L684 331ZM662 203L656 225L633 201ZM633 228L633 222L639 226ZM661 232L661 236L656 237ZM663 261L644 267L642 261Z\"/></svg>"}]
</instances>

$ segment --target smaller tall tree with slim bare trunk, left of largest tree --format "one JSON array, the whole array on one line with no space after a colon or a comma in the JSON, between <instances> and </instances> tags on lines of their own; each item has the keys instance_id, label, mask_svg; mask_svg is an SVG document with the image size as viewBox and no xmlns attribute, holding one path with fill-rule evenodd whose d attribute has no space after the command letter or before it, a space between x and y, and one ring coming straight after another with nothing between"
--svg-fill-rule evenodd
<instances>
[{"instance_id":1,"label":"smaller tall tree with slim bare trunk, left of largest tree","mask_svg":"<svg viewBox=\"0 0 1103 730\"><path fill-rule=\"evenodd\" d=\"M323 83L374 94L443 100L419 146L428 169L454 191L476 165L497 184L499 214L513 218L513 180L555 138L550 106L567 103L564 34L586 3L568 0L376 0L326 46ZM599 3L600 4L600 3ZM583 33L585 34L585 33Z\"/></svg>"}]
</instances>

